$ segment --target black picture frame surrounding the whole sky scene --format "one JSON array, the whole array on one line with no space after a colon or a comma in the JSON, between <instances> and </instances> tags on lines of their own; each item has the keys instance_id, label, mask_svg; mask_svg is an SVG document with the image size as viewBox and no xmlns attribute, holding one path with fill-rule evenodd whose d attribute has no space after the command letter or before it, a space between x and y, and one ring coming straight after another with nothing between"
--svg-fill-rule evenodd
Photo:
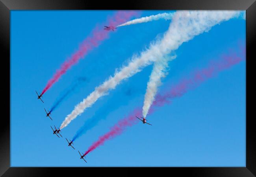
<instances>
[{"instance_id":1,"label":"black picture frame surrounding the whole sky scene","mask_svg":"<svg viewBox=\"0 0 256 177\"><path fill-rule=\"evenodd\" d=\"M0 71L3 80L1 88L2 94L2 115L0 123L0 175L2 176L50 176L63 175L68 173L82 173L89 175L89 171L94 171L94 175L99 172L109 174L110 170L122 170L126 175L133 175L135 168L17 168L10 167L10 10L68 10L68 9L158 9L158 10L246 10L246 167L170 167L161 168L163 173L179 174L178 176L196 176L196 177L253 177L256 175L256 136L254 133L254 114L250 114L250 101L252 101L253 87L250 87L250 78L253 78L253 64L256 40L256 2L255 0L136 0L136 1L92 1L92 0L0 0L0 45L3 58L1 59L4 67ZM8 71L9 69L9 71ZM9 74L6 74L8 73ZM4 86L4 87L3 87ZM9 93L9 94L6 94ZM249 95L249 96L247 96ZM8 104L7 104L8 103ZM9 112L8 112L9 110ZM22 115L21 115L22 116ZM22 117L21 117L22 118ZM158 170L159 168L154 168ZM139 169L140 170L140 169ZM152 168L144 169L143 172L150 173ZM109 173L108 173L109 172Z\"/></svg>"}]
</instances>

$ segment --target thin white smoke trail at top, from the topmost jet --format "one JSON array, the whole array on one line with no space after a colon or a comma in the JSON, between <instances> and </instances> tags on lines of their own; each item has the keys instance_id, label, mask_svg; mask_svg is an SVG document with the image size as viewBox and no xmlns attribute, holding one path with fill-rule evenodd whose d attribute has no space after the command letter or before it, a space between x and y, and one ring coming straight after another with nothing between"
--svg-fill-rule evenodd
<instances>
[{"instance_id":1,"label":"thin white smoke trail at top, from the topmost jet","mask_svg":"<svg viewBox=\"0 0 256 177\"><path fill-rule=\"evenodd\" d=\"M159 20L159 19L171 20L173 18L174 14L175 13L159 13L157 15L150 15L148 17L141 17L141 18L137 18L134 20L130 20L130 21L125 22L119 26L127 26L127 25L131 25L131 24L146 23L146 22L150 22L153 20ZM119 26L117 26L117 27L119 27Z\"/></svg>"}]
</instances>

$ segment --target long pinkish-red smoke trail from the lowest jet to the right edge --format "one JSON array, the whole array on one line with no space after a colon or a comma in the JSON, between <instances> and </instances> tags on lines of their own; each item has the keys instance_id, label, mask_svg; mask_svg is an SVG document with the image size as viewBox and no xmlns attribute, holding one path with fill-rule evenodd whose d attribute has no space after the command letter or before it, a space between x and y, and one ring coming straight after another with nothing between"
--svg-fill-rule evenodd
<instances>
[{"instance_id":1,"label":"long pinkish-red smoke trail from the lowest jet to the right edge","mask_svg":"<svg viewBox=\"0 0 256 177\"><path fill-rule=\"evenodd\" d=\"M148 114L152 114L152 112L154 112L154 107L159 107L163 106L166 103L171 103L169 99L182 96L189 89L193 89L203 81L206 81L207 79L215 76L218 72L221 72L225 69L230 68L233 65L236 65L244 59L245 55L243 55L242 57L238 57L235 53L232 53L230 55L223 55L219 61L210 62L210 65L208 65L206 68L197 70L196 72L194 72L194 74L191 74L192 77L189 77L189 79L182 79L177 85L174 85L170 90L166 91L165 94L158 94ZM141 110L135 109L129 114L128 117L120 120L110 129L108 133L100 136L100 138L95 143L93 143L92 146L89 147L84 155L87 155L98 146L103 145L106 140L120 135L128 126L132 126L138 123L139 121L135 116L139 114L141 114Z\"/></svg>"}]
</instances>

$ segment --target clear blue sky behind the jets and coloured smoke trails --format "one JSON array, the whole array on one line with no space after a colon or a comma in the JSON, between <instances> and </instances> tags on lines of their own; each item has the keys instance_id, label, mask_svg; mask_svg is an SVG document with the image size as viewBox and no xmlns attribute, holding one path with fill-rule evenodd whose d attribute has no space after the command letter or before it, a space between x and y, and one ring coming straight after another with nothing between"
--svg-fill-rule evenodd
<instances>
[{"instance_id":1,"label":"clear blue sky behind the jets and coloured smoke trails","mask_svg":"<svg viewBox=\"0 0 256 177\"><path fill-rule=\"evenodd\" d=\"M141 17L169 11L141 11ZM73 66L48 90L41 92L61 63L113 11L11 11L11 166L245 166L245 61L221 72L200 87L165 105L87 155L87 148L135 107L141 106L152 65L123 81L63 129L71 139L85 120L101 116L93 129L74 142L52 135L65 116L94 88L113 75L133 54L163 34L170 20L120 27L109 39ZM234 18L185 42L159 92L195 68L206 66L228 48L245 41L245 20ZM244 42L245 43L245 42ZM60 94L78 77L86 78L53 112Z\"/></svg>"}]
</instances>

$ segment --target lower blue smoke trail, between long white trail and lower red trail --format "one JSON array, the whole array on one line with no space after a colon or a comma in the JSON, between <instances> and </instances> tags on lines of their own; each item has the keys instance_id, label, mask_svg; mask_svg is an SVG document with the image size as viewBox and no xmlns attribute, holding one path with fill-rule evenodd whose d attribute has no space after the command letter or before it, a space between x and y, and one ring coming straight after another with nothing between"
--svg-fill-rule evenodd
<instances>
[{"instance_id":1,"label":"lower blue smoke trail, between long white trail and lower red trail","mask_svg":"<svg viewBox=\"0 0 256 177\"><path fill-rule=\"evenodd\" d=\"M103 107L101 107L93 117L91 117L88 120L85 120L84 124L82 127L80 127L80 129L78 129L78 131L76 132L76 134L74 135L74 137L72 138L72 141L76 140L77 138L79 138L80 136L82 136L83 134L85 134L88 130L92 129L95 125L98 124L98 122L100 122L100 120L105 119L108 114L110 112L113 112L115 109L117 109L118 107L122 106L122 105L126 105L126 101L124 101L124 97L128 97L129 99L133 96L135 96L134 93L131 93L132 91L129 89L126 91L125 95L119 96L119 100L117 100L117 97L112 98L111 100L108 101L107 105L104 105ZM126 99L128 101L128 99ZM104 112L105 116L102 116L102 112Z\"/></svg>"}]
</instances>

